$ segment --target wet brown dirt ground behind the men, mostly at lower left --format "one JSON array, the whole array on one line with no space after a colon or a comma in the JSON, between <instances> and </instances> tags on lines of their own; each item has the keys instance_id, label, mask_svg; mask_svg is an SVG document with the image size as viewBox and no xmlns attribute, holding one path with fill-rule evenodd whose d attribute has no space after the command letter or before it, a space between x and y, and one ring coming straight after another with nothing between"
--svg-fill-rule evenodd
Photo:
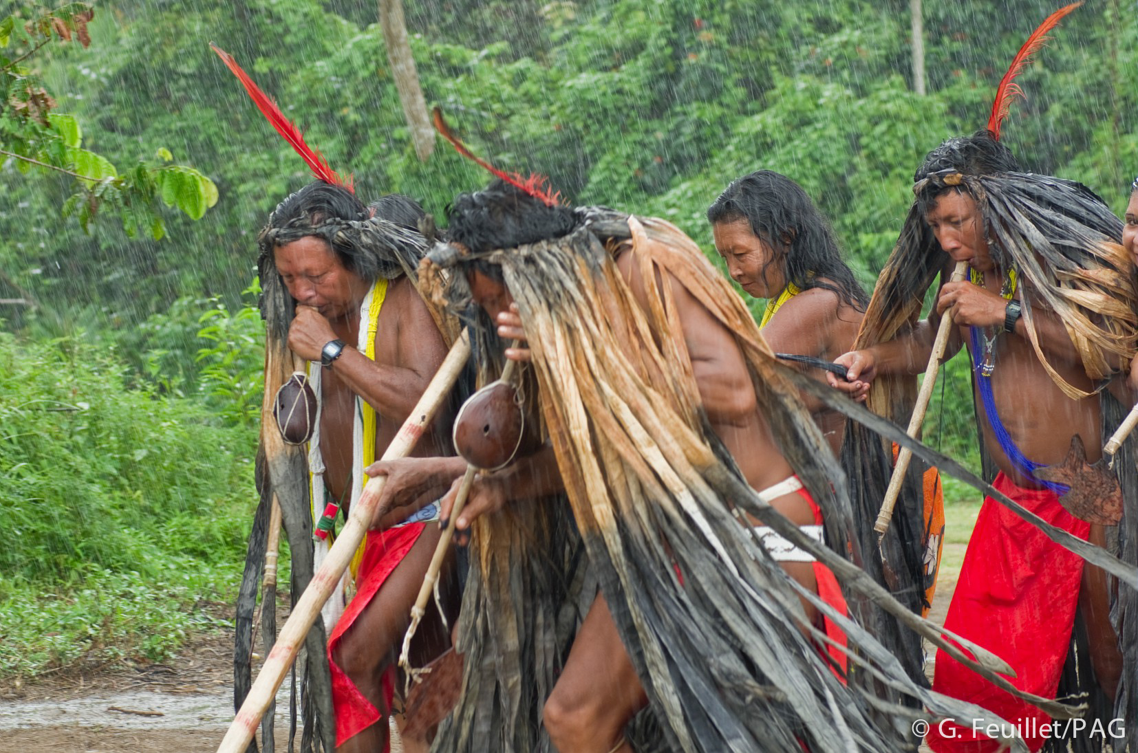
<instances>
[{"instance_id":1,"label":"wet brown dirt ground behind the men, mostly at lower left","mask_svg":"<svg viewBox=\"0 0 1138 753\"><path fill-rule=\"evenodd\" d=\"M930 615L937 622L945 619L963 553L964 544L945 545ZM166 663L104 665L0 686L0 753L213 753L233 719L232 651L232 631L223 630L196 637ZM931 662L927 671L931 677ZM286 680L279 709L287 693ZM287 736L279 726L279 750Z\"/></svg>"}]
</instances>

